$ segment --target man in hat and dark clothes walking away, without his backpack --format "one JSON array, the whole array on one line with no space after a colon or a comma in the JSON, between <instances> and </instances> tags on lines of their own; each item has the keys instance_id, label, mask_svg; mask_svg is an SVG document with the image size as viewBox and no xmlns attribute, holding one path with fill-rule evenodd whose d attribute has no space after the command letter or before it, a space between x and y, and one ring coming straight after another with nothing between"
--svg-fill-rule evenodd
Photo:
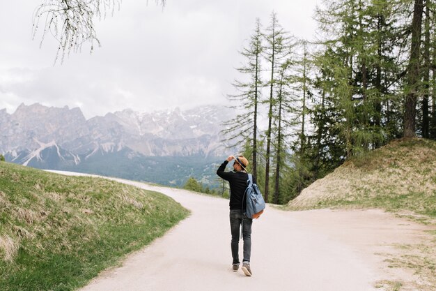
<instances>
[{"instance_id":1,"label":"man in hat and dark clothes walking away, without his backpack","mask_svg":"<svg viewBox=\"0 0 436 291\"><path fill-rule=\"evenodd\" d=\"M228 162L233 162L233 172L224 172ZM239 261L239 237L240 227L242 225L242 238L244 239L244 260L242 260L242 271L246 276L251 276L250 255L251 255L251 225L253 220L244 216L246 202L244 192L247 188L248 174L246 167L248 165L247 158L244 156L228 156L226 161L222 163L217 175L230 184L230 227L232 234L231 250L233 257L233 271L238 271L240 266ZM254 179L254 177L253 177ZM256 180L253 181L256 183Z\"/></svg>"}]
</instances>

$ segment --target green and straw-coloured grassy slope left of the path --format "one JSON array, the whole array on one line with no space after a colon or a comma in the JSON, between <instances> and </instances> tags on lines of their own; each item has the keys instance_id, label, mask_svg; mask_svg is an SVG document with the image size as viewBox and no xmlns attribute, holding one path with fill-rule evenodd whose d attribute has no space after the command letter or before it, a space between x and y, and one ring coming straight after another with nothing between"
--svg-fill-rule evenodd
<instances>
[{"instance_id":1,"label":"green and straw-coloured grassy slope left of the path","mask_svg":"<svg viewBox=\"0 0 436 291\"><path fill-rule=\"evenodd\" d=\"M0 289L75 290L187 215L160 193L1 162Z\"/></svg>"}]
</instances>

